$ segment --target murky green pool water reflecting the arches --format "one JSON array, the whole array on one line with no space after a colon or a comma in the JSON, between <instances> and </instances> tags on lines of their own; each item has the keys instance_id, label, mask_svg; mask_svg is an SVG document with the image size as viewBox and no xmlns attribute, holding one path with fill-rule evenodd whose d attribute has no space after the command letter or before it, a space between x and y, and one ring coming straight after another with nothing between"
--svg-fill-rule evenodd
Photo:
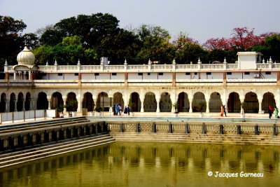
<instances>
[{"instance_id":1,"label":"murky green pool water reflecting the arches","mask_svg":"<svg viewBox=\"0 0 280 187\"><path fill-rule=\"evenodd\" d=\"M278 146L117 142L1 169L0 186L272 187L280 186L279 156Z\"/></svg>"}]
</instances>

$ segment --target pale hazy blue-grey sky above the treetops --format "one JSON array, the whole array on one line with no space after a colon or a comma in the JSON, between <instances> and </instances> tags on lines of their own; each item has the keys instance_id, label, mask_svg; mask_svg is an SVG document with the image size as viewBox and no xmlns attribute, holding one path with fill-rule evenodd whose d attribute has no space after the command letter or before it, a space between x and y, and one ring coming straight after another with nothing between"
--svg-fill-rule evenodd
<instances>
[{"instance_id":1,"label":"pale hazy blue-grey sky above the treetops","mask_svg":"<svg viewBox=\"0 0 280 187\"><path fill-rule=\"evenodd\" d=\"M99 12L116 16L122 28L159 25L172 38L186 32L200 43L229 37L235 27L255 28L255 34L280 32L279 0L0 0L0 15L25 22L25 32Z\"/></svg>"}]
</instances>

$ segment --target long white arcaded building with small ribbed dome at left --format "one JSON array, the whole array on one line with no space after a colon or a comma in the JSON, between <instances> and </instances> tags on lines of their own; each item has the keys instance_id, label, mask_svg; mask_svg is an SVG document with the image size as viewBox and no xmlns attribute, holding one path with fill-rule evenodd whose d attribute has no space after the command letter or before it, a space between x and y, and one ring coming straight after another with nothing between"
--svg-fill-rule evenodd
<instances>
[{"instance_id":1,"label":"long white arcaded building with small ribbed dome at left","mask_svg":"<svg viewBox=\"0 0 280 187\"><path fill-rule=\"evenodd\" d=\"M4 67L0 80L0 111L54 109L76 100L75 110L92 111L102 106L103 97L113 104L134 102L139 112L168 112L179 103L179 111L193 113L198 103L206 102L206 113L239 113L245 102L246 113L261 113L280 105L280 64L261 62L261 54L239 52L235 64L148 64L36 66L27 48L18 54L18 65Z\"/></svg>"}]
</instances>

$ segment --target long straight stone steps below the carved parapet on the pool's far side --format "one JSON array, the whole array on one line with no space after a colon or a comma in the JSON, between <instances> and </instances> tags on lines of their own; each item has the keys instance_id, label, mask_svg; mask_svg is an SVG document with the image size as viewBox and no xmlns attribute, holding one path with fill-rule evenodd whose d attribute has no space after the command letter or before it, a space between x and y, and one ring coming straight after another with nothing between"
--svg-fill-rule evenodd
<instances>
[{"instance_id":1,"label":"long straight stone steps below the carved parapet on the pool's far side","mask_svg":"<svg viewBox=\"0 0 280 187\"><path fill-rule=\"evenodd\" d=\"M201 144L254 144L280 146L280 136L249 134L182 134L110 132L116 141L150 141Z\"/></svg>"}]
</instances>

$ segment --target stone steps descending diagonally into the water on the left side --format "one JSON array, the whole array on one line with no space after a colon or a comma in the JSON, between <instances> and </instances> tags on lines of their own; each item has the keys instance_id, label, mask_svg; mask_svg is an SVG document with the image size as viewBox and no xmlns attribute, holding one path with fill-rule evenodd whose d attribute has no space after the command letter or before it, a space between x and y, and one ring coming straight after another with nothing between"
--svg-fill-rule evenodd
<instances>
[{"instance_id":1,"label":"stone steps descending diagonally into the water on the left side","mask_svg":"<svg viewBox=\"0 0 280 187\"><path fill-rule=\"evenodd\" d=\"M69 153L71 151L78 151L83 148L90 148L93 146L101 146L110 144L116 140L110 134L94 134L75 139L66 139L63 141L56 141L52 144L41 144L37 147L27 147L22 150L13 150L10 153L0 154L0 168L11 165L18 165L23 162L29 162L41 158Z\"/></svg>"}]
</instances>

